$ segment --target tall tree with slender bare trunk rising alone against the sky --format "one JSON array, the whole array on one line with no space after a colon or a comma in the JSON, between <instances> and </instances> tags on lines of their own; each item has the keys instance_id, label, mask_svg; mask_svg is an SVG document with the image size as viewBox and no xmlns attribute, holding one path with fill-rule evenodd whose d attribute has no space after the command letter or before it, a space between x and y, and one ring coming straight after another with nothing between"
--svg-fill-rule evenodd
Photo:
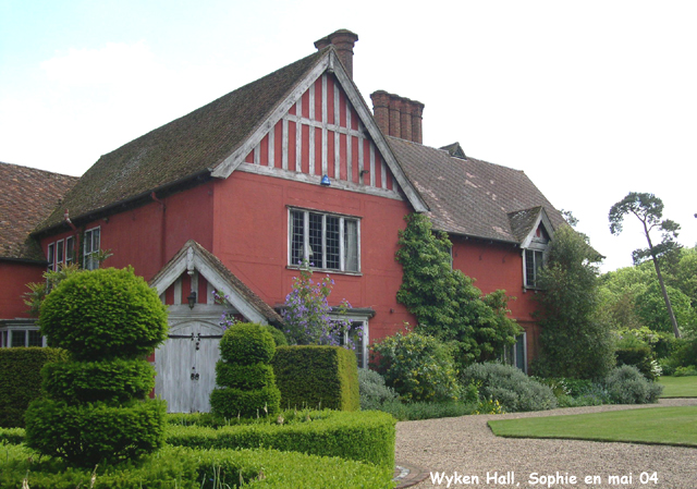
<instances>
[{"instance_id":1,"label":"tall tree with slender bare trunk rising alone against the sky","mask_svg":"<svg viewBox=\"0 0 697 489\"><path fill-rule=\"evenodd\" d=\"M629 192L626 197L616 203L610 209L608 216L610 220L610 232L617 235L622 232L622 224L624 217L628 213L634 215L644 227L644 235L648 242L648 248L639 248L632 252L632 258L634 264L638 265L648 258L653 260L653 268L658 276L658 282L661 286L661 293L663 294L663 301L665 301L665 307L668 315L673 325L673 333L675 338L680 338L680 329L677 328L677 321L675 320L675 314L673 313L673 306L671 299L668 296L665 284L663 283L663 276L661 274L661 267L659 259L670 252L680 248L680 244L675 241L677 237L677 231L680 224L663 218L663 201L653 194ZM651 231L660 231L662 233L661 242L653 244L651 240Z\"/></svg>"}]
</instances>

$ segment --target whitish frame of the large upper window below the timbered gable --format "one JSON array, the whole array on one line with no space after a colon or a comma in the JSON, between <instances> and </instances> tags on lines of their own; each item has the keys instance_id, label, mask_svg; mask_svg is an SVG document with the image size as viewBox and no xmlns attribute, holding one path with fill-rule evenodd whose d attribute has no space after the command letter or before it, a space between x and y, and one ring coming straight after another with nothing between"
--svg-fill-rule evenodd
<instances>
[{"instance_id":1,"label":"whitish frame of the large upper window below the timbered gable","mask_svg":"<svg viewBox=\"0 0 697 489\"><path fill-rule=\"evenodd\" d=\"M302 209L296 207L290 207L288 212L288 264L290 268L299 268L299 264L293 262L293 213L302 212L303 215L303 261L307 264L314 264L310 252L309 244L309 219L310 215L320 216L322 222L322 236L321 236L321 255L322 262L314 264L310 266L314 270L322 270L328 272L339 272L339 273L347 273L347 274L359 274L360 273L360 218L355 216L344 216L340 213L333 212L322 212L318 210L310 209ZM328 268L327 267L327 218L337 218L339 220L339 268ZM356 225L356 269L348 270L346 269L346 249L345 249L345 234L347 230L347 222L355 222Z\"/></svg>"}]
</instances>

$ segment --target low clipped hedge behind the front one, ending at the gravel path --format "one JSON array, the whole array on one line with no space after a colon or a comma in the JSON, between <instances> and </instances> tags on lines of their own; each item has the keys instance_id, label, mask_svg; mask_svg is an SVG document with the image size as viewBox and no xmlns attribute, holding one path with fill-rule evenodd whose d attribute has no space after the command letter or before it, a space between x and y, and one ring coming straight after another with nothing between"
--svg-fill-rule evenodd
<instances>
[{"instance_id":1,"label":"low clipped hedge behind the front one, ending at the gravel path","mask_svg":"<svg viewBox=\"0 0 697 489\"><path fill-rule=\"evenodd\" d=\"M378 411L315 412L306 423L167 427L169 444L197 449L265 447L394 467L394 418ZM314 418L319 416L320 418ZM314 418L314 419L313 419Z\"/></svg>"}]
</instances>

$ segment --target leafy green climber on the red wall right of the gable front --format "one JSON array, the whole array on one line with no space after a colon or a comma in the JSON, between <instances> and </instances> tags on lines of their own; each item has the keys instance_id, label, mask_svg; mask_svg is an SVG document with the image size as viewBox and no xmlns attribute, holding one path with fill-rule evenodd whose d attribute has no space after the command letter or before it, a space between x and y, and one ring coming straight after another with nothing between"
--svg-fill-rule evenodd
<instances>
[{"instance_id":1,"label":"leafy green climber on the red wall right of the gable front","mask_svg":"<svg viewBox=\"0 0 697 489\"><path fill-rule=\"evenodd\" d=\"M396 252L404 269L396 297L416 316L417 331L456 342L461 366L497 358L521 332L508 317L505 292L482 297L473 279L453 270L448 235L433 232L424 215L408 215L405 220Z\"/></svg>"}]
</instances>

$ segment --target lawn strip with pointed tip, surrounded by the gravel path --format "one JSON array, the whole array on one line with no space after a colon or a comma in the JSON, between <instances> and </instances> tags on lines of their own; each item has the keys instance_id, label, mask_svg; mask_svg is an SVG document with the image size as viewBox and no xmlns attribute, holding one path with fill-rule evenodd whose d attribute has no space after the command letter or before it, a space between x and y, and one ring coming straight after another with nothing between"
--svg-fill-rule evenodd
<instances>
[{"instance_id":1,"label":"lawn strip with pointed tip, surrounded by the gravel path","mask_svg":"<svg viewBox=\"0 0 697 489\"><path fill-rule=\"evenodd\" d=\"M697 447L697 406L648 407L568 416L496 419L499 437L567 438Z\"/></svg>"}]
</instances>

